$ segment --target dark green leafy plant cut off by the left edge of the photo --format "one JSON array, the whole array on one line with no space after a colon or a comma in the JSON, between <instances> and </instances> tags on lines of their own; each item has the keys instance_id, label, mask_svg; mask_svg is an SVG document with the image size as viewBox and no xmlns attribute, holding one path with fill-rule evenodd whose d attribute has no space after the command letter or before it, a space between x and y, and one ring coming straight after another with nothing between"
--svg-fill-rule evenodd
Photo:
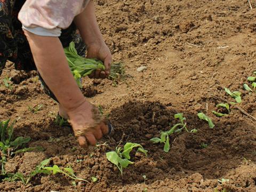
<instances>
[{"instance_id":1,"label":"dark green leafy plant cut off by the left edge of the photo","mask_svg":"<svg viewBox=\"0 0 256 192\"><path fill-rule=\"evenodd\" d=\"M9 125L9 123L10 123L10 119L0 122L0 136L1 136L0 149L2 152L0 162L2 164L2 172L1 172L2 175L6 174L5 163L7 161L7 157L11 157L18 153L25 153L31 150L43 150L42 147L25 148L25 144L30 141L30 137L27 137L27 138L18 137L14 139L13 125L15 122L13 122L11 125Z\"/></svg>"}]
</instances>

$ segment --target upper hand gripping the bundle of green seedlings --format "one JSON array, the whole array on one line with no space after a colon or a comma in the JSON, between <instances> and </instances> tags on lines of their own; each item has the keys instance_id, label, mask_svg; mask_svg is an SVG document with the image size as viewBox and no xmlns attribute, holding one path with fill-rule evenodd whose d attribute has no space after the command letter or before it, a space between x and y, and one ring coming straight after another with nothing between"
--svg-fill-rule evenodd
<instances>
[{"instance_id":1,"label":"upper hand gripping the bundle of green seedlings","mask_svg":"<svg viewBox=\"0 0 256 192\"><path fill-rule=\"evenodd\" d=\"M110 74L112 55L105 42L88 45L86 57L99 59L106 67L105 71L95 70L94 73L89 75L90 78L106 78Z\"/></svg>"}]
</instances>

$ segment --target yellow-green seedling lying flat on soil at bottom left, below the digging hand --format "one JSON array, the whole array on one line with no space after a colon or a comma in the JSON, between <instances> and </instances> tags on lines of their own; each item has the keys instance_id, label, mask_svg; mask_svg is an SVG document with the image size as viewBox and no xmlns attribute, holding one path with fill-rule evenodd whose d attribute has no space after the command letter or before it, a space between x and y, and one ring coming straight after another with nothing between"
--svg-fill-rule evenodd
<instances>
[{"instance_id":1,"label":"yellow-green seedling lying flat on soil at bottom left, below the digging hand","mask_svg":"<svg viewBox=\"0 0 256 192\"><path fill-rule=\"evenodd\" d=\"M60 169L60 167L58 165L53 165L52 167L43 167L42 169L47 170L54 175L57 173L61 173L61 174L65 174L67 177L74 179L74 180L89 182L85 179L76 177L76 175L71 167L65 167L62 170L62 169Z\"/></svg>"}]
</instances>

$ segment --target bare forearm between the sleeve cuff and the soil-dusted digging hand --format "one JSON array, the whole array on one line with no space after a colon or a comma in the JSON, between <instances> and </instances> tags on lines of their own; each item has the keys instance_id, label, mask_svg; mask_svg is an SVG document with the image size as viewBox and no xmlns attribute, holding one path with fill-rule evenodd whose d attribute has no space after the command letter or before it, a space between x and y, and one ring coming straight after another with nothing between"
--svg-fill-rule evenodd
<instances>
[{"instance_id":1,"label":"bare forearm between the sleeve cuff and the soil-dusted digging hand","mask_svg":"<svg viewBox=\"0 0 256 192\"><path fill-rule=\"evenodd\" d=\"M25 31L36 67L61 105L71 110L84 102L58 37L38 36Z\"/></svg>"}]
</instances>

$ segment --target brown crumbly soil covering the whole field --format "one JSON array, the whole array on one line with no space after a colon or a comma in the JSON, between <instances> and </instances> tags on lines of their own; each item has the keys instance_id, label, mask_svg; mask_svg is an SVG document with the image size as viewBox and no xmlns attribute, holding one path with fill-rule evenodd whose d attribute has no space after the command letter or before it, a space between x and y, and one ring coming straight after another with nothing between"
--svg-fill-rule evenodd
<instances>
[{"instance_id":1,"label":"brown crumbly soil covering the whole field","mask_svg":"<svg viewBox=\"0 0 256 192\"><path fill-rule=\"evenodd\" d=\"M72 166L76 182L57 175L38 175L29 185L0 183L1 191L256 191L255 121L231 107L225 117L212 110L216 95L235 101L223 90L241 91L238 106L256 117L255 93L243 84L256 70L256 3L251 1L97 0L97 18L114 61L123 61L128 78L112 82L84 78L83 93L101 105L115 126L114 135L82 149L71 130L54 123L57 104L42 91L35 71L16 71L8 63L0 81L0 119L18 118L15 136L29 136L29 147L42 146L8 159L6 170L28 175L43 159ZM141 72L138 67L146 66ZM12 89L3 84L12 77ZM34 114L28 106L43 104ZM215 127L198 119L203 112ZM177 123L183 113L189 130L170 137L170 151L149 141ZM70 134L71 133L71 134ZM148 156L132 154L123 176L106 152L125 142L141 143ZM202 148L201 144L207 144ZM146 175L146 180L142 177ZM97 182L91 182L97 177ZM228 182L219 182L229 179Z\"/></svg>"}]
</instances>

